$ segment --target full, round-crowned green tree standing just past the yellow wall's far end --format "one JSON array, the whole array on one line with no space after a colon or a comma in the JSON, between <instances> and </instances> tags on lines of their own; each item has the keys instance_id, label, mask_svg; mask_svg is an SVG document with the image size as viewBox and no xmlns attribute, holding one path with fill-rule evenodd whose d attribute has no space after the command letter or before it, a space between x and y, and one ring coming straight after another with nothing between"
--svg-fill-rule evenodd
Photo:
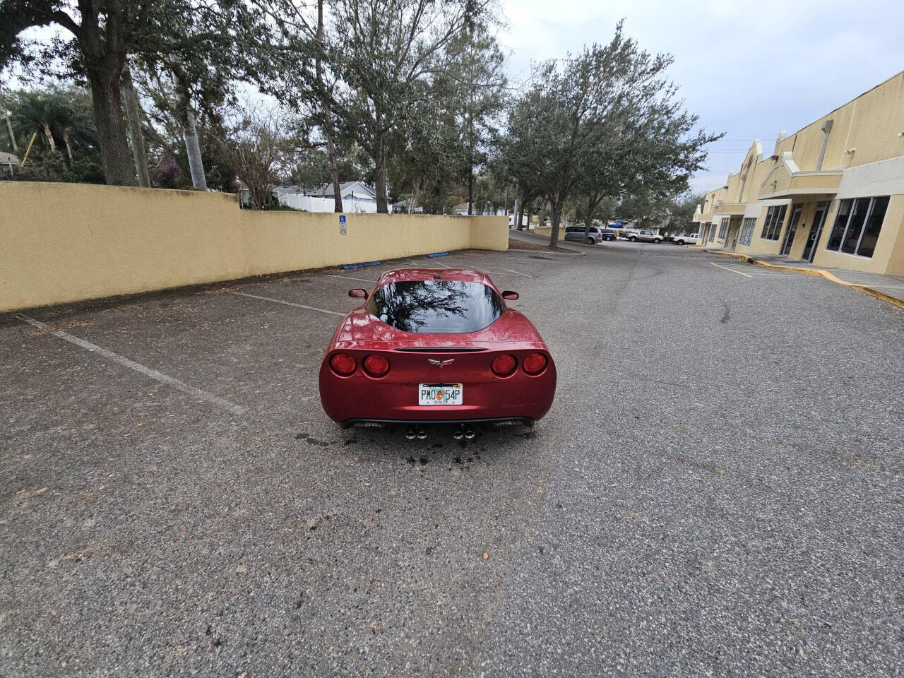
<instances>
[{"instance_id":1,"label":"full, round-crowned green tree standing just past the yellow wall's far end","mask_svg":"<svg viewBox=\"0 0 904 678\"><path fill-rule=\"evenodd\" d=\"M680 193L702 167L705 146L720 135L695 130L697 117L665 79L671 63L639 49L618 24L607 45L541 64L511 108L504 167L526 193L549 199L551 247L570 197L585 196L592 218L605 197Z\"/></svg>"}]
</instances>

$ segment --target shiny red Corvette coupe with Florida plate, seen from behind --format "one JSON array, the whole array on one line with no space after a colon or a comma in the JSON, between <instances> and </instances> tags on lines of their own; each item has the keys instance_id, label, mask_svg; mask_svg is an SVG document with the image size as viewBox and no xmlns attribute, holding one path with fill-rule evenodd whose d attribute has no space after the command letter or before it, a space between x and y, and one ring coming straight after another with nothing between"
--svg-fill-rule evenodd
<instances>
[{"instance_id":1,"label":"shiny red Corvette coupe with Florida plate, seen from behind","mask_svg":"<svg viewBox=\"0 0 904 678\"><path fill-rule=\"evenodd\" d=\"M384 273L372 293L335 331L320 367L326 414L354 424L532 426L550 409L556 366L526 317L505 305L517 299L484 273L405 268Z\"/></svg>"}]
</instances>

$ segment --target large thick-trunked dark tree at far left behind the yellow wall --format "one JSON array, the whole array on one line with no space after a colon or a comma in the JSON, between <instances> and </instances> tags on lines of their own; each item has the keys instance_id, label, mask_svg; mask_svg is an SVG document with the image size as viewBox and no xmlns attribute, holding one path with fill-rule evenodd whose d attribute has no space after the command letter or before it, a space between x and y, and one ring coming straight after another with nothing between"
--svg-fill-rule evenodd
<instances>
[{"instance_id":1,"label":"large thick-trunked dark tree at far left behind the yellow wall","mask_svg":"<svg viewBox=\"0 0 904 678\"><path fill-rule=\"evenodd\" d=\"M25 41L29 28L53 26L61 36ZM258 74L269 24L257 5L241 0L98 0L73 6L66 0L4 0L0 3L0 69L18 62L26 72L89 82L95 127L110 184L135 184L119 80L131 56L147 71L171 76L172 99L186 118L189 101L220 104L237 80ZM50 32L48 32L50 34Z\"/></svg>"}]
</instances>

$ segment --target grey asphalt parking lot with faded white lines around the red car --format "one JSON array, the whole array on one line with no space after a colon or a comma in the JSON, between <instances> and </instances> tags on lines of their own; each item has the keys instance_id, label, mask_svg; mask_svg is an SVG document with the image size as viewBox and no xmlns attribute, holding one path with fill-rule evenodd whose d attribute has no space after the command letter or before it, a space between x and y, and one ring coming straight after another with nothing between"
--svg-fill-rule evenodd
<instances>
[{"instance_id":1,"label":"grey asphalt parking lot with faded white lines around the red car","mask_svg":"<svg viewBox=\"0 0 904 678\"><path fill-rule=\"evenodd\" d=\"M904 313L673 245L0 315L0 675L899 675ZM341 430L382 269L481 268L535 428Z\"/></svg>"}]
</instances>

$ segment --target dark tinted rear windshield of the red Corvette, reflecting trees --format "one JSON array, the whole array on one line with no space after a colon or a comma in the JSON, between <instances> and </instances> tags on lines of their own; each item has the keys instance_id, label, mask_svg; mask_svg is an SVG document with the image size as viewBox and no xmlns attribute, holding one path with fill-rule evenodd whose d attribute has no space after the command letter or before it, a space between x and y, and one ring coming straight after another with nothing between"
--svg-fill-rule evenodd
<instances>
[{"instance_id":1,"label":"dark tinted rear windshield of the red Corvette, reflecting trees","mask_svg":"<svg viewBox=\"0 0 904 678\"><path fill-rule=\"evenodd\" d=\"M378 288L365 306L402 332L460 334L492 325L505 305L493 287L460 280L400 280Z\"/></svg>"}]
</instances>

